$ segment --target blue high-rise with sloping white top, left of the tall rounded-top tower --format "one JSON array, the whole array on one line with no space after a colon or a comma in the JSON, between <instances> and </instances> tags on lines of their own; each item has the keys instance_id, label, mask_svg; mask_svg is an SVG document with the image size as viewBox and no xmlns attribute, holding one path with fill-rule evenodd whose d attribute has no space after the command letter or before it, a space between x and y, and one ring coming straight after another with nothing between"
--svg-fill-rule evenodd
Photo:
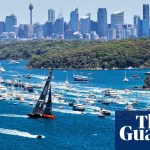
<instances>
[{"instance_id":1,"label":"blue high-rise with sloping white top, left of the tall rounded-top tower","mask_svg":"<svg viewBox=\"0 0 150 150\"><path fill-rule=\"evenodd\" d=\"M86 14L80 19L80 31L82 34L90 33L91 20L90 14Z\"/></svg>"}]
</instances>

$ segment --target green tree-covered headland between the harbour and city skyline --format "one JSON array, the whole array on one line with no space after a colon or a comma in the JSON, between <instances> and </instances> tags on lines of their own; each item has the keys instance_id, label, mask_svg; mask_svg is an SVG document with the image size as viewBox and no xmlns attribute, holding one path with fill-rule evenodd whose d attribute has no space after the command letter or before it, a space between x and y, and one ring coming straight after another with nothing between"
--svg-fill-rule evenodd
<instances>
[{"instance_id":1,"label":"green tree-covered headland between the harbour and city skyline","mask_svg":"<svg viewBox=\"0 0 150 150\"><path fill-rule=\"evenodd\" d=\"M0 59L27 59L36 68L150 67L150 39L122 41L26 41L0 44Z\"/></svg>"}]
</instances>

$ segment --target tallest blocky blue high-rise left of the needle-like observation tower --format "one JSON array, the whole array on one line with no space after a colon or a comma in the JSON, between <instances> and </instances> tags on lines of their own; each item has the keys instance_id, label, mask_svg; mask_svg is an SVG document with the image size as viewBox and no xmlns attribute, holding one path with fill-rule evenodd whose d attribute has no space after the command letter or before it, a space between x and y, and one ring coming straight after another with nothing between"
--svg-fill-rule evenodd
<instances>
[{"instance_id":1,"label":"tallest blocky blue high-rise left of the needle-like observation tower","mask_svg":"<svg viewBox=\"0 0 150 150\"><path fill-rule=\"evenodd\" d=\"M6 16L6 32L14 32L14 26L17 25L17 18L14 14Z\"/></svg>"}]
</instances>

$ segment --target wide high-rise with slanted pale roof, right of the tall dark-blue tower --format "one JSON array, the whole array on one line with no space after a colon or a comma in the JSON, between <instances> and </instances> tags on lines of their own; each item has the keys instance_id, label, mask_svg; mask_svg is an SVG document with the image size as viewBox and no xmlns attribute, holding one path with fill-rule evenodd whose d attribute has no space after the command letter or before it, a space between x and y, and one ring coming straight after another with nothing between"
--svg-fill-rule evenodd
<instances>
[{"instance_id":1,"label":"wide high-rise with slanted pale roof, right of the tall dark-blue tower","mask_svg":"<svg viewBox=\"0 0 150 150\"><path fill-rule=\"evenodd\" d=\"M111 15L111 25L123 25L124 24L124 12L115 12Z\"/></svg>"}]
</instances>

